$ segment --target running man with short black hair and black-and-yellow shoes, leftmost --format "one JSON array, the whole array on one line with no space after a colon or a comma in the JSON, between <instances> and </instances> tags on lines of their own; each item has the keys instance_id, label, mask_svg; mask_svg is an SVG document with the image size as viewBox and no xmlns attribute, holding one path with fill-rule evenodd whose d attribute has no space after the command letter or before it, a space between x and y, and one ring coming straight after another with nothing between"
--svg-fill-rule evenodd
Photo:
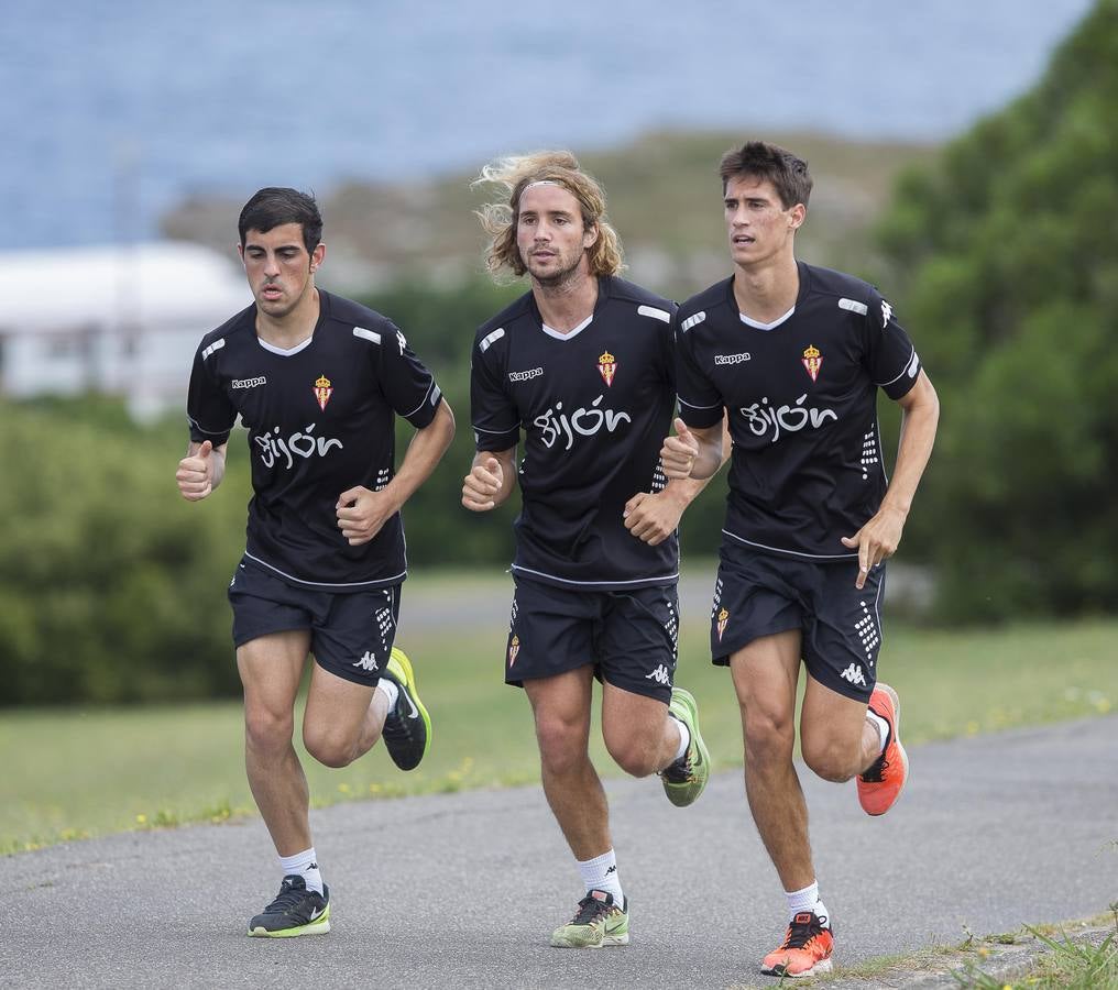
<instances>
[{"instance_id":1,"label":"running man with short black hair and black-and-yellow shoes, leftmost","mask_svg":"<svg viewBox=\"0 0 1118 990\"><path fill-rule=\"evenodd\" d=\"M391 321L315 286L325 245L313 198L262 189L238 231L255 302L198 348L176 478L184 498L206 498L240 417L254 495L229 601L245 765L283 877L248 933L286 937L330 931L292 745L307 656L303 741L316 760L345 767L383 735L410 770L430 743L411 665L392 644L407 573L399 511L449 446L454 417ZM397 415L416 428L398 469Z\"/></svg>"}]
</instances>

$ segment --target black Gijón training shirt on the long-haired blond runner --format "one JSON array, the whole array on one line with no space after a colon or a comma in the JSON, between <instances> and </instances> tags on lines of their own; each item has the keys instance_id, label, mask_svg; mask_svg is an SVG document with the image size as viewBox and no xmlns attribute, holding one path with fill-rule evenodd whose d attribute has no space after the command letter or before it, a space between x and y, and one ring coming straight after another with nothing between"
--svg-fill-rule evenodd
<instances>
[{"instance_id":1,"label":"black Gij\u00f3n training shirt on the long-haired blond runner","mask_svg":"<svg viewBox=\"0 0 1118 990\"><path fill-rule=\"evenodd\" d=\"M659 492L660 448L675 408L675 304L619 278L598 279L589 323L544 327L531 293L485 323L473 351L479 450L524 431L513 572L572 590L670 584L679 544L625 529L625 503Z\"/></svg>"}]
</instances>

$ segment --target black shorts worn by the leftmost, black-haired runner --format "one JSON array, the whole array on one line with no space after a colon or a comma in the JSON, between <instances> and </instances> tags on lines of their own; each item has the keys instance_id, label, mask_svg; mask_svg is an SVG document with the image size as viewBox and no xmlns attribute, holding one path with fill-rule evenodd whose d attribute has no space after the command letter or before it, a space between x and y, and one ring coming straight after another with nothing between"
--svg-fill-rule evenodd
<instances>
[{"instance_id":1,"label":"black shorts worn by the leftmost, black-haired runner","mask_svg":"<svg viewBox=\"0 0 1118 990\"><path fill-rule=\"evenodd\" d=\"M288 584L244 558L229 582L233 641L311 630L315 663L354 684L375 685L388 661L400 612L400 586L368 591L313 591Z\"/></svg>"}]
</instances>

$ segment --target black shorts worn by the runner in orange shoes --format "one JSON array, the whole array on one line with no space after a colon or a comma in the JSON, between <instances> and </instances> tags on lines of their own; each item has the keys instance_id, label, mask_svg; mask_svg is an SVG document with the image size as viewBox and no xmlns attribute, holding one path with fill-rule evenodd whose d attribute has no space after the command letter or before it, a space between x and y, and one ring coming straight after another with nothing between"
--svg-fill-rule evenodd
<instances>
[{"instance_id":1,"label":"black shorts worn by the runner in orange shoes","mask_svg":"<svg viewBox=\"0 0 1118 990\"><path fill-rule=\"evenodd\" d=\"M855 701L869 701L878 680L881 596L885 567L854 587L858 558L816 563L722 544L710 617L713 663L761 636L799 629L807 673Z\"/></svg>"}]
</instances>

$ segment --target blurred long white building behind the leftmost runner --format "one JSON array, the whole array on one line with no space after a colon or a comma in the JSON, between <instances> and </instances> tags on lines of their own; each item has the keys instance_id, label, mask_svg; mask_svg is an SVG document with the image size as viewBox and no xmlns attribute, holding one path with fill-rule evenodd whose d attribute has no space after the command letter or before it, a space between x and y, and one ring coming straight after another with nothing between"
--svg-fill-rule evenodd
<instances>
[{"instance_id":1,"label":"blurred long white building behind the leftmost runner","mask_svg":"<svg viewBox=\"0 0 1118 990\"><path fill-rule=\"evenodd\" d=\"M0 391L186 408L202 335L253 301L235 248L183 241L0 253Z\"/></svg>"}]
</instances>

